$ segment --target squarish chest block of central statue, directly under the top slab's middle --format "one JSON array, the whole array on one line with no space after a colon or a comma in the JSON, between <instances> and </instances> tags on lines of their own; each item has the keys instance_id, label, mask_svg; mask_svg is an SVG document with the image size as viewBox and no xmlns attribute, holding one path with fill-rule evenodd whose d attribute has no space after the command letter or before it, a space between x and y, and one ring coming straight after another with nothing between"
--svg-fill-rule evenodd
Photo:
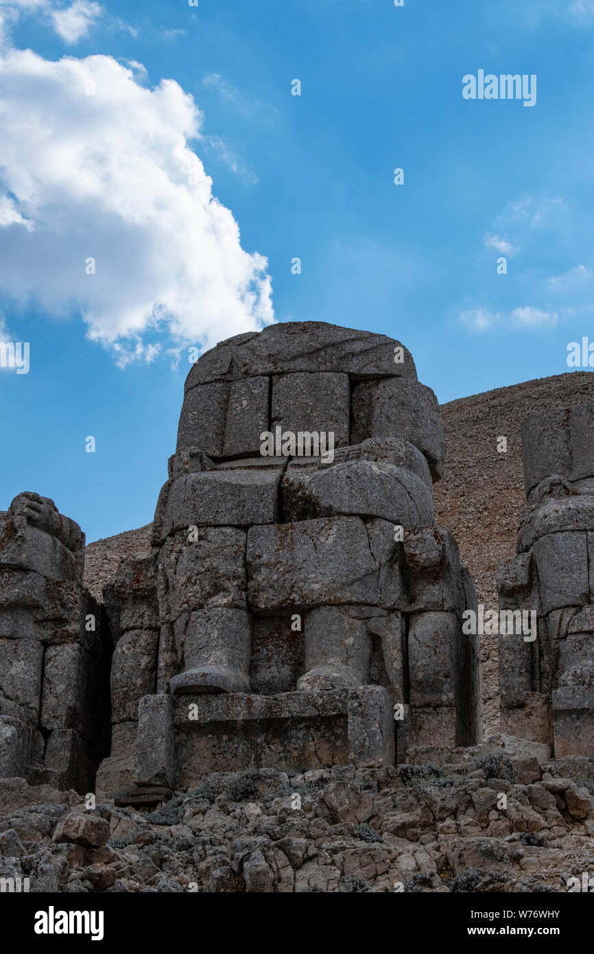
<instances>
[{"instance_id":1,"label":"squarish chest block of central statue, directly under the top slab's middle","mask_svg":"<svg viewBox=\"0 0 594 954\"><path fill-rule=\"evenodd\" d=\"M333 446L349 443L348 375L308 373L277 375L272 380L271 430L334 434Z\"/></svg>"}]
</instances>

